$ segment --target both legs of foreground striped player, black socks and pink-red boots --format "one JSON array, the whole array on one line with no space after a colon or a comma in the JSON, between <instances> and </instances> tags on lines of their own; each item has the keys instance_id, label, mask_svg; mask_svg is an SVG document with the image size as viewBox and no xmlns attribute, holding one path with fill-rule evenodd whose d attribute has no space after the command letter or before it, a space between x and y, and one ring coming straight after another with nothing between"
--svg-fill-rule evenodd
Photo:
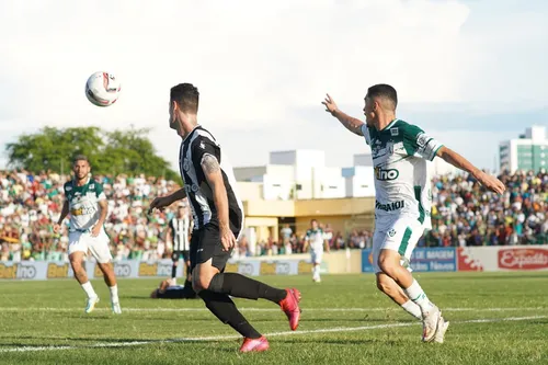
<instances>
[{"instance_id":1,"label":"both legs of foreground striped player, black socks and pink-red boots","mask_svg":"<svg viewBox=\"0 0 548 365\"><path fill-rule=\"evenodd\" d=\"M264 351L269 341L261 335L236 308L230 296L247 299L267 299L278 304L289 318L292 330L296 330L300 317L296 289L277 289L237 273L220 273L212 265L212 259L193 271L193 287L206 307L222 322L232 327L244 338L241 352Z\"/></svg>"}]
</instances>

